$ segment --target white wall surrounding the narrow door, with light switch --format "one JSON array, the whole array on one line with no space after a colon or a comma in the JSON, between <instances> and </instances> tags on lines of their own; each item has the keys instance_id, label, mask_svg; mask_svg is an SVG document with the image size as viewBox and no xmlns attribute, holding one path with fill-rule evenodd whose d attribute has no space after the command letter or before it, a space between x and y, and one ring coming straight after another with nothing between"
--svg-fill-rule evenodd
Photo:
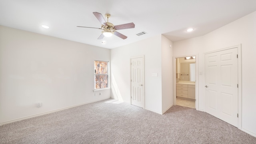
<instances>
[{"instance_id":1,"label":"white wall surrounding the narrow door, with light switch","mask_svg":"<svg viewBox=\"0 0 256 144\"><path fill-rule=\"evenodd\" d=\"M145 109L161 114L161 35L111 49L110 53L111 97L130 103L130 57L144 55Z\"/></svg>"}]
</instances>

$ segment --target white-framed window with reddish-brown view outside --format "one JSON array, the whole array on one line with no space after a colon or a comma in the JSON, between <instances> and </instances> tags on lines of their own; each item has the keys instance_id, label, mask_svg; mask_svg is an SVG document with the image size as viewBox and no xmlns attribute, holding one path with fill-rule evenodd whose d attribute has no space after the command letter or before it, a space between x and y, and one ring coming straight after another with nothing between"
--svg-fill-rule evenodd
<instances>
[{"instance_id":1,"label":"white-framed window with reddish-brown view outside","mask_svg":"<svg viewBox=\"0 0 256 144\"><path fill-rule=\"evenodd\" d=\"M108 88L108 62L94 60L94 89Z\"/></svg>"}]
</instances>

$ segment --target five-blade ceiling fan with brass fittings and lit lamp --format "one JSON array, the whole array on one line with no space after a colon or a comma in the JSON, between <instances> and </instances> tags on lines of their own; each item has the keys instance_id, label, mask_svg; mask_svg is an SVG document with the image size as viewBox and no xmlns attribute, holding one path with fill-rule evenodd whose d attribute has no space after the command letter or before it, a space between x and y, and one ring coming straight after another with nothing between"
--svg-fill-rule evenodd
<instances>
[{"instance_id":1,"label":"five-blade ceiling fan with brass fittings and lit lamp","mask_svg":"<svg viewBox=\"0 0 256 144\"><path fill-rule=\"evenodd\" d=\"M133 22L128 23L128 24L120 24L117 26L114 26L114 24L108 22L108 19L110 18L110 14L105 14L105 17L107 18L107 22L105 21L104 17L102 16L102 14L98 13L98 12L93 12L94 16L96 16L96 18L100 21L101 23L101 28L97 28L102 30L102 34L98 37L98 39L102 39L104 38L104 36L106 37L110 37L112 36L112 34L122 38L122 39L126 39L127 36L117 32L116 30L123 30L123 29L128 29L128 28L135 28L135 24ZM82 28L92 28L92 27L86 27L86 26L77 26L77 27L82 27Z\"/></svg>"}]
</instances>

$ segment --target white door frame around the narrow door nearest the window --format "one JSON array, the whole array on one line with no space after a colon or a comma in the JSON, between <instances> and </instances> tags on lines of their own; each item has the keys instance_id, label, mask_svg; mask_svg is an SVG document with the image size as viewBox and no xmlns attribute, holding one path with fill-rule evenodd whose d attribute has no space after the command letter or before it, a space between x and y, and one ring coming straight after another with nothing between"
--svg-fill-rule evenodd
<instances>
[{"instance_id":1,"label":"white door frame around the narrow door nearest the window","mask_svg":"<svg viewBox=\"0 0 256 144\"><path fill-rule=\"evenodd\" d=\"M132 56L130 57L130 104L132 104L132 82L131 82L131 76L132 76L132 73L131 73L131 68L132 68L132 59L133 58L142 58L142 64L143 64L143 109L145 109L145 65L144 65L144 55L141 55L141 56Z\"/></svg>"}]
</instances>

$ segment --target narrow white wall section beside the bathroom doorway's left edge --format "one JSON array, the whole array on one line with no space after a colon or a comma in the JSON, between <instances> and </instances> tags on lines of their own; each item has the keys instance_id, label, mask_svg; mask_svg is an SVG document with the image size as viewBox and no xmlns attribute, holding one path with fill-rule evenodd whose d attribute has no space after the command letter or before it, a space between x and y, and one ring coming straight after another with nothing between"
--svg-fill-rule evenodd
<instances>
[{"instance_id":1,"label":"narrow white wall section beside the bathroom doorway's left edge","mask_svg":"<svg viewBox=\"0 0 256 144\"><path fill-rule=\"evenodd\" d=\"M161 38L162 63L162 113L173 105L173 58L172 42L162 35Z\"/></svg>"}]
</instances>

